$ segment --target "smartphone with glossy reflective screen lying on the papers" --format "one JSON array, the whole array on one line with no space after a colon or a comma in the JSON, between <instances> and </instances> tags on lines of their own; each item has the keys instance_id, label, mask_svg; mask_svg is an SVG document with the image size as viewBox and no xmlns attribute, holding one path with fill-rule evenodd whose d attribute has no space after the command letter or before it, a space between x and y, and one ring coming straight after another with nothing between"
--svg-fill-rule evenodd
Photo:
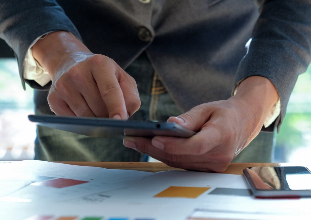
<instances>
[{"instance_id":1,"label":"smartphone with glossy reflective screen lying on the papers","mask_svg":"<svg viewBox=\"0 0 311 220\"><path fill-rule=\"evenodd\" d=\"M255 166L243 173L257 198L311 196L311 172L304 166Z\"/></svg>"}]
</instances>

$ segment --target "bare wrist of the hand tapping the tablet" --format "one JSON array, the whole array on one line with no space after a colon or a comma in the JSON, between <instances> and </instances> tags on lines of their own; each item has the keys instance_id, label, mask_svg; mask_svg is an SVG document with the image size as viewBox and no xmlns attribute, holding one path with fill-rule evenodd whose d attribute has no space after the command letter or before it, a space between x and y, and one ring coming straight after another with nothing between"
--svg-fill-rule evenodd
<instances>
[{"instance_id":1,"label":"bare wrist of the hand tapping the tablet","mask_svg":"<svg viewBox=\"0 0 311 220\"><path fill-rule=\"evenodd\" d=\"M91 54L91 51L74 35L66 31L49 33L32 47L37 62L47 70L52 81L55 74L68 61L74 61L74 54Z\"/></svg>"}]
</instances>

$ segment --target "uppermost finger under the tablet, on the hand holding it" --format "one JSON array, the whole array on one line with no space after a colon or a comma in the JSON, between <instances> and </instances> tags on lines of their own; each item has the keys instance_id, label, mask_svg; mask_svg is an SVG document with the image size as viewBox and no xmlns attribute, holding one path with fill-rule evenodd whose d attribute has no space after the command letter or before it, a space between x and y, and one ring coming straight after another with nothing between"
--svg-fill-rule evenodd
<instances>
[{"instance_id":1,"label":"uppermost finger under the tablet, on the hand holding it","mask_svg":"<svg viewBox=\"0 0 311 220\"><path fill-rule=\"evenodd\" d=\"M170 154L202 155L222 143L221 133L213 127L206 128L190 138L156 136L152 145Z\"/></svg>"}]
</instances>

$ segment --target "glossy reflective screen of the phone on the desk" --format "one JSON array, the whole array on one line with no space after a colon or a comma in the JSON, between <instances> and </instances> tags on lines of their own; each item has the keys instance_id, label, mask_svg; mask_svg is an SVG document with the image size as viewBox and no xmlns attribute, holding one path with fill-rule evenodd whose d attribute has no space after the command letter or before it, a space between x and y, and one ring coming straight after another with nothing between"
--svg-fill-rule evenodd
<instances>
[{"instance_id":1,"label":"glossy reflective screen of the phone on the desk","mask_svg":"<svg viewBox=\"0 0 311 220\"><path fill-rule=\"evenodd\" d=\"M303 166L249 167L244 174L256 190L311 190L311 172Z\"/></svg>"}]
</instances>

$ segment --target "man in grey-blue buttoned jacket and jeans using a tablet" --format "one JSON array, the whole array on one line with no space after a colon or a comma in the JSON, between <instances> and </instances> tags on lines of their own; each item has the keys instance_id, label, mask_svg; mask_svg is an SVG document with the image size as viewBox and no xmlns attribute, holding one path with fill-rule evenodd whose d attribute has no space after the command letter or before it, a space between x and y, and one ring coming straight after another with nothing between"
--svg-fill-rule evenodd
<instances>
[{"instance_id":1,"label":"man in grey-blue buttoned jacket and jeans using a tablet","mask_svg":"<svg viewBox=\"0 0 311 220\"><path fill-rule=\"evenodd\" d=\"M308 0L0 2L0 37L16 54L22 85L38 90L36 114L168 119L198 131L126 137L125 148L38 126L41 160L147 154L216 172L234 158L269 162L272 131L310 63Z\"/></svg>"}]
</instances>

